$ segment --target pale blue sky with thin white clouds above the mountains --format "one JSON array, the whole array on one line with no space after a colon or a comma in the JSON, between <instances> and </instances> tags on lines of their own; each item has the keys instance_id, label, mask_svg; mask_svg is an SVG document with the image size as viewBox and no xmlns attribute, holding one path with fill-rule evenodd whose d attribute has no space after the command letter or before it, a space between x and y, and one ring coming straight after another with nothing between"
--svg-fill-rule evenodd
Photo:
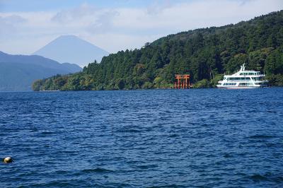
<instances>
[{"instance_id":1,"label":"pale blue sky with thin white clouds above the mountains","mask_svg":"<svg viewBox=\"0 0 283 188\"><path fill-rule=\"evenodd\" d=\"M115 53L282 9L282 0L0 0L0 51L32 54L60 35L76 35Z\"/></svg>"}]
</instances>

